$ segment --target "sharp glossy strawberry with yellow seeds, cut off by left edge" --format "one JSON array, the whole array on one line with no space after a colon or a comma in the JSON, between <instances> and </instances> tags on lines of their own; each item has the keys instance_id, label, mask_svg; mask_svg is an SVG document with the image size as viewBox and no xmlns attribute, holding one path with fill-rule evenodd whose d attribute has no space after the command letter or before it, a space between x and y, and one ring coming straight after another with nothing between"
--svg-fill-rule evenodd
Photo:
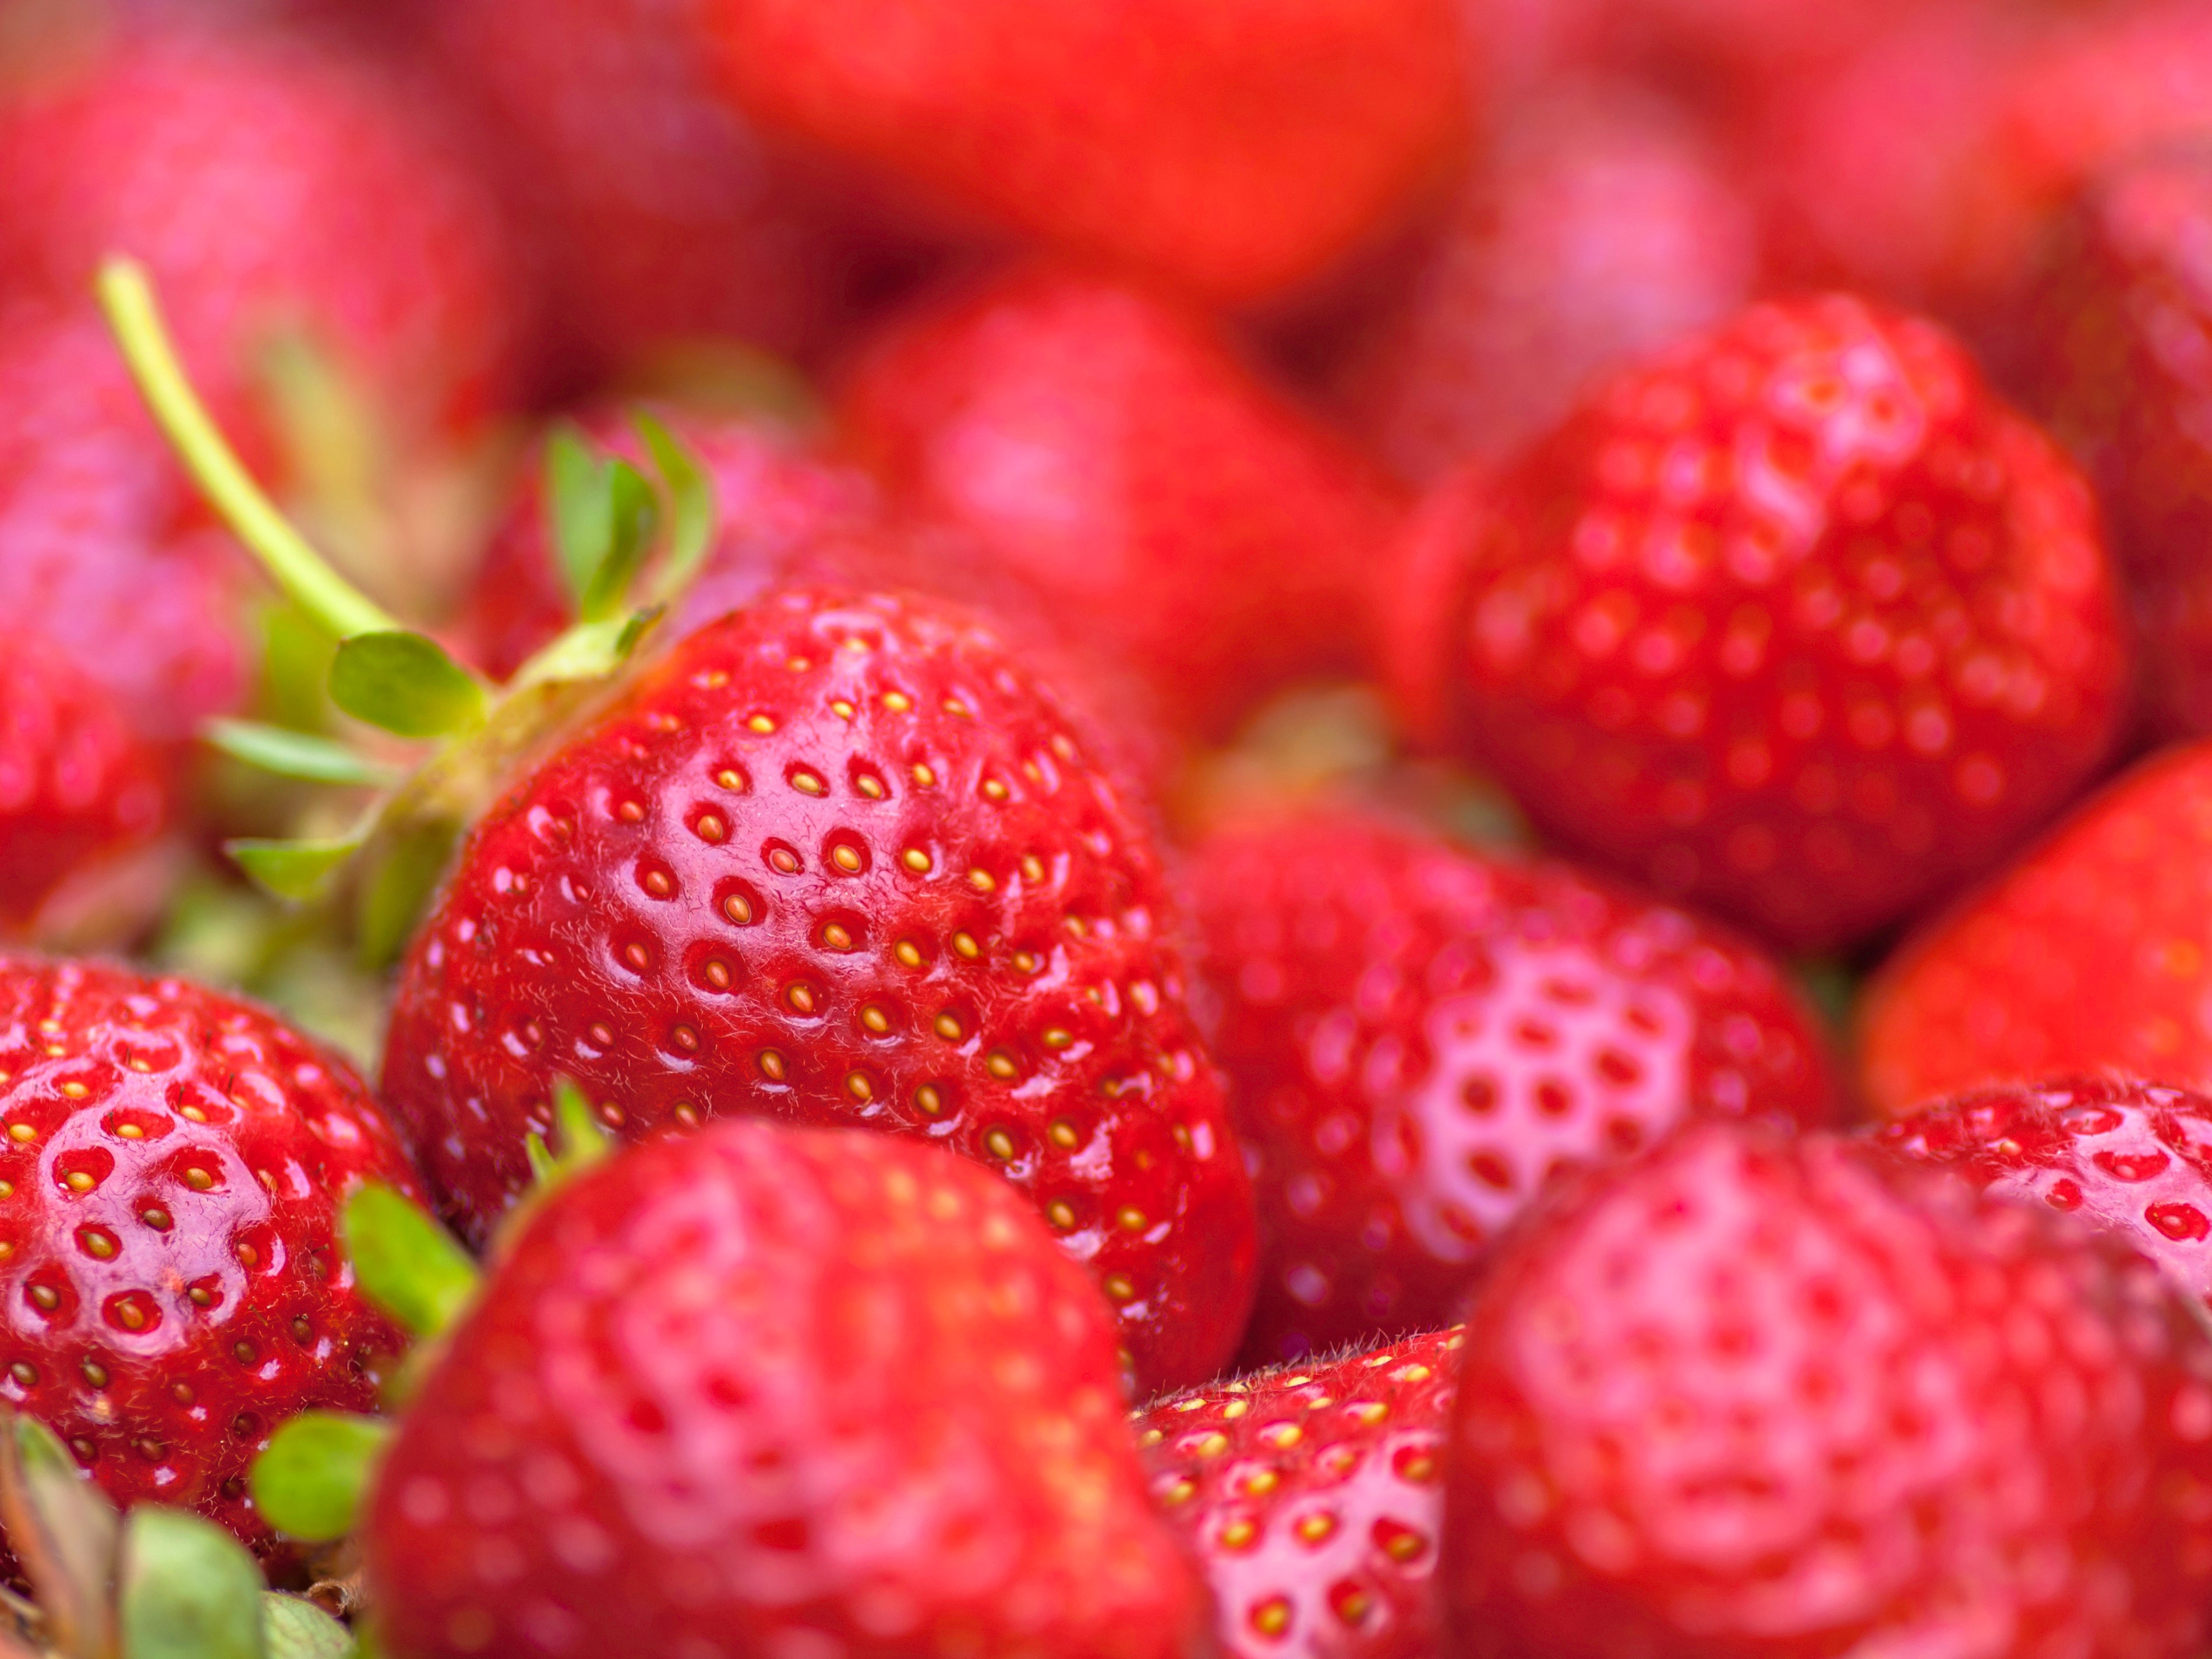
<instances>
[{"instance_id":1,"label":"sharp glossy strawberry with yellow seeds, cut off by left edge","mask_svg":"<svg viewBox=\"0 0 2212 1659\"><path fill-rule=\"evenodd\" d=\"M338 1210L420 1183L354 1071L184 980L0 956L0 1400L117 1502L259 1548L246 1469L307 1407L367 1411L400 1334Z\"/></svg>"}]
</instances>

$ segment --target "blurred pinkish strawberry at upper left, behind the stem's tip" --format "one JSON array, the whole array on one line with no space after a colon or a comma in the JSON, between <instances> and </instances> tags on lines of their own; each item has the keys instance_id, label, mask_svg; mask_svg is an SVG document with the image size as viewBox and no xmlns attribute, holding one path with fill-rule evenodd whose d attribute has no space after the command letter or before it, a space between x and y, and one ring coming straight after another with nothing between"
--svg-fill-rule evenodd
<instances>
[{"instance_id":1,"label":"blurred pinkish strawberry at upper left, behind the stem's tip","mask_svg":"<svg viewBox=\"0 0 2212 1659\"><path fill-rule=\"evenodd\" d=\"M0 290L150 265L199 372L305 330L403 438L500 407L531 299L498 197L422 88L299 33L135 22L0 100Z\"/></svg>"}]
</instances>

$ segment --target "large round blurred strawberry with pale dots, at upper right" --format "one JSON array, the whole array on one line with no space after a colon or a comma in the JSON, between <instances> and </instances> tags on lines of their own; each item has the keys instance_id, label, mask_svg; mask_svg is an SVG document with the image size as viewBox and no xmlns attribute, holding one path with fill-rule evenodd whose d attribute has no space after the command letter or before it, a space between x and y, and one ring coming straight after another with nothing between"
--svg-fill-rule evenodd
<instances>
[{"instance_id":1,"label":"large round blurred strawberry with pale dots, at upper right","mask_svg":"<svg viewBox=\"0 0 2212 1659\"><path fill-rule=\"evenodd\" d=\"M1798 947L1982 869L2126 688L2081 478L1953 341L1845 296L1615 378L1447 484L1407 564L1455 593L1396 653L1531 816Z\"/></svg>"}]
</instances>

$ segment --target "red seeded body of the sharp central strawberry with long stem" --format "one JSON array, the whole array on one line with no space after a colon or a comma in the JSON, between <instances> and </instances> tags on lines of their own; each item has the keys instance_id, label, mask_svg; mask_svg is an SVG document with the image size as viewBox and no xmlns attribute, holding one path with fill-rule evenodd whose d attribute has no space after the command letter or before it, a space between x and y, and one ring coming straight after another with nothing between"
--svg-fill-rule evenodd
<instances>
[{"instance_id":1,"label":"red seeded body of the sharp central strawberry with long stem","mask_svg":"<svg viewBox=\"0 0 2212 1659\"><path fill-rule=\"evenodd\" d=\"M1206 1378L1252 1197L1152 836L1015 650L922 602L701 628L471 832L403 967L385 1095L482 1239L573 1075L626 1133L865 1124L998 1168Z\"/></svg>"}]
</instances>

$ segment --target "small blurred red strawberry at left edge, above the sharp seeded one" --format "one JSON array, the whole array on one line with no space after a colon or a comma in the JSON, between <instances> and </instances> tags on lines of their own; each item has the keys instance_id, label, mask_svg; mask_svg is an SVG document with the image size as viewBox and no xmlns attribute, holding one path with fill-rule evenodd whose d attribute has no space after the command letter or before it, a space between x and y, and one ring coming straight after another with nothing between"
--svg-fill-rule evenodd
<instances>
[{"instance_id":1,"label":"small blurred red strawberry at left edge, above the sharp seeded one","mask_svg":"<svg viewBox=\"0 0 2212 1659\"><path fill-rule=\"evenodd\" d=\"M168 827L168 779L115 697L29 635L0 639L0 933L60 929ZM128 909L128 905L126 905Z\"/></svg>"}]
</instances>

